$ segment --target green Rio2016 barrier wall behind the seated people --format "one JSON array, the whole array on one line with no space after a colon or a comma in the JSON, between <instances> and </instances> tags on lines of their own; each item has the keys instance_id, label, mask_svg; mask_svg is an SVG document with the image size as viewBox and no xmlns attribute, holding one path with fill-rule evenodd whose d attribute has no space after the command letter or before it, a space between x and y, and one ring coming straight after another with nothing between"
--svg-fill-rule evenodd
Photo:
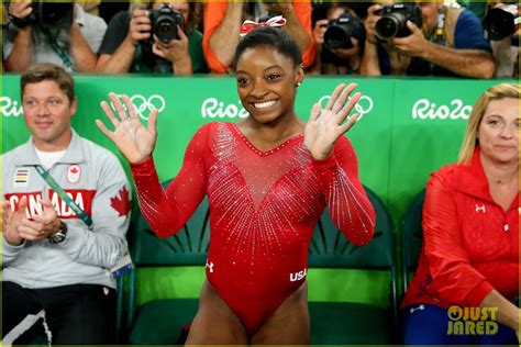
<instances>
[{"instance_id":1,"label":"green Rio2016 barrier wall behind the seated people","mask_svg":"<svg viewBox=\"0 0 521 347\"><path fill-rule=\"evenodd\" d=\"M29 137L21 111L19 81L20 77L15 75L2 77L3 152L20 145ZM399 233L400 221L408 203L425 186L429 175L442 165L456 160L465 121L476 99L487 87L503 80L346 80L312 77L306 79L299 88L297 113L306 120L314 102L324 105L326 96L334 87L346 81L357 82L358 91L364 94L357 110L363 116L348 133L357 153L362 182L373 189L389 208ZM162 110L154 154L162 180L177 174L184 150L199 126L212 121L236 122L246 116L236 94L235 81L229 77L114 78L78 75L76 82L78 112L73 121L74 127L80 135L112 150L114 146L95 124L96 119L104 117L99 104L102 100L108 100L107 94L110 91L129 94L143 121L147 119L149 108ZM334 273L335 277L325 270L315 270L314 273L310 271L310 299L348 300L354 295L362 301L387 301L385 294L374 294L386 291L386 278L378 279L358 271L348 275L342 271ZM157 271L148 271L142 276L154 279L151 282L164 278L164 273ZM171 278L176 276L187 275L173 273ZM202 269L195 271L191 282L200 283L202 278ZM168 287L166 283L162 286ZM157 288L142 291L141 300L160 296L156 291ZM197 295L198 291L191 288L186 291L186 295Z\"/></svg>"}]
</instances>

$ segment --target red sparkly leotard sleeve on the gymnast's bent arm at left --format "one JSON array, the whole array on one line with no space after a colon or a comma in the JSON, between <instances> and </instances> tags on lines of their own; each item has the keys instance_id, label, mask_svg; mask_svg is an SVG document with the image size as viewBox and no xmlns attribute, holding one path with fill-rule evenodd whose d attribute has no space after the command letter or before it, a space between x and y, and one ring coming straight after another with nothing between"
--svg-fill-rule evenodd
<instances>
[{"instance_id":1,"label":"red sparkly leotard sleeve on the gymnast's bent arm at left","mask_svg":"<svg viewBox=\"0 0 521 347\"><path fill-rule=\"evenodd\" d=\"M190 141L182 167L166 190L160 186L152 158L138 165L131 165L140 210L159 237L176 234L204 198L204 156L209 127L202 126Z\"/></svg>"}]
</instances>

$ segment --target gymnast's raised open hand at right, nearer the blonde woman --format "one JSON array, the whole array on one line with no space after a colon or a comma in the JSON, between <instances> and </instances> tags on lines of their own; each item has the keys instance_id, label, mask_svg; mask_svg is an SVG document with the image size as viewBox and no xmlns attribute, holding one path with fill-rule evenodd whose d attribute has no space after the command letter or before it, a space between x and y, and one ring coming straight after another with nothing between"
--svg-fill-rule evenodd
<instances>
[{"instance_id":1,"label":"gymnast's raised open hand at right, nearer the blonde woman","mask_svg":"<svg viewBox=\"0 0 521 347\"><path fill-rule=\"evenodd\" d=\"M362 97L357 92L348 99L355 88L355 83L347 87L341 83L335 88L323 110L319 103L313 105L304 128L303 143L314 159L328 158L340 136L345 134L358 119L359 114L355 113L344 123Z\"/></svg>"}]
</instances>

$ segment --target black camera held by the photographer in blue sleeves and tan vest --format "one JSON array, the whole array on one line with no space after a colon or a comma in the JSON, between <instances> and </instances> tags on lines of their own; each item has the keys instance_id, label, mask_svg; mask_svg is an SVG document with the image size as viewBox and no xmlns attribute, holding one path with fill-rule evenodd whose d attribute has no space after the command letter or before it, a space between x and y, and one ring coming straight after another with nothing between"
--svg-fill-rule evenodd
<instances>
[{"instance_id":1,"label":"black camera held by the photographer in blue sleeves and tan vest","mask_svg":"<svg viewBox=\"0 0 521 347\"><path fill-rule=\"evenodd\" d=\"M381 41L409 36L411 32L407 27L407 21L421 27L421 8L417 3L397 2L386 5L381 9L381 18L376 22L376 36Z\"/></svg>"}]
</instances>

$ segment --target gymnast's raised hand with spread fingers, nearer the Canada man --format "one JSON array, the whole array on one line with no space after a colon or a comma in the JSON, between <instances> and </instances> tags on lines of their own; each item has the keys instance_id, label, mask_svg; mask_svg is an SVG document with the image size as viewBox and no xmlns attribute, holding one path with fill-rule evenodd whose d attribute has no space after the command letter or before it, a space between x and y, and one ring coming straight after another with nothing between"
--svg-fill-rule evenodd
<instances>
[{"instance_id":1,"label":"gymnast's raised hand with spread fingers, nearer the Canada man","mask_svg":"<svg viewBox=\"0 0 521 347\"><path fill-rule=\"evenodd\" d=\"M101 102L101 109L114 125L114 131L109 131L107 126L100 120L96 120L96 125L99 130L112 141L121 154L129 160L130 164L140 164L145 161L152 156L152 152L156 145L157 132L156 132L156 120L157 109L154 109L148 116L148 126L145 127L141 124L140 117L135 107L128 96L123 94L123 101L125 108L121 104L117 94L111 92L109 98L118 113L114 116L109 103L107 101Z\"/></svg>"}]
</instances>

